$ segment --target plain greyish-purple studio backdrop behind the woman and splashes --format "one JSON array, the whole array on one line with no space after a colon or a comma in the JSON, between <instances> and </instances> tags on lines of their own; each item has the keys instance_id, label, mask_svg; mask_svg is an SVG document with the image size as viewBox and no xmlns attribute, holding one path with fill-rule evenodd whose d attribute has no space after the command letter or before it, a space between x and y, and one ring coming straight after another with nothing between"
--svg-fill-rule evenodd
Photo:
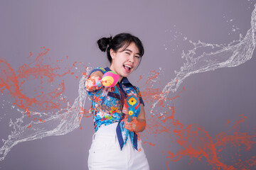
<instances>
[{"instance_id":1,"label":"plain greyish-purple studio backdrop behind the woman and splashes","mask_svg":"<svg viewBox=\"0 0 256 170\"><path fill-rule=\"evenodd\" d=\"M0 56L15 69L26 63L29 52L36 53L40 47L47 47L52 59L68 55L70 63L77 61L90 67L105 67L107 59L97 49L97 39L129 32L137 35L145 47L142 63L130 76L131 81L136 85L138 75L158 71L161 67L164 74L159 89L162 89L175 77L174 70L184 62L181 52L189 48L184 37L194 42L217 44L238 40L239 34L245 35L250 28L254 4L255 1L240 0L0 1ZM247 132L253 130L255 68L253 55L251 60L238 67L188 77L181 84L186 91L173 101L176 118L184 127L191 124L203 126L214 138L226 130L227 120L235 122L238 115L243 114L247 116ZM71 103L78 96L78 81L65 77L65 96ZM8 96L0 98L2 102L11 100ZM0 112L8 116L14 115L15 111L2 107ZM4 119L0 123L1 136L4 136L10 132L8 123ZM20 143L0 162L0 169L87 169L93 132L92 118L83 118L82 130L78 128L67 135ZM144 145L151 169L167 169L168 159L161 151L169 145L178 147L164 137L155 147ZM253 152L255 145L247 155L255 156ZM229 157L226 154L223 162L231 164ZM178 162L170 162L169 169L212 167L205 160L193 159L190 164L189 157L183 157Z\"/></svg>"}]
</instances>

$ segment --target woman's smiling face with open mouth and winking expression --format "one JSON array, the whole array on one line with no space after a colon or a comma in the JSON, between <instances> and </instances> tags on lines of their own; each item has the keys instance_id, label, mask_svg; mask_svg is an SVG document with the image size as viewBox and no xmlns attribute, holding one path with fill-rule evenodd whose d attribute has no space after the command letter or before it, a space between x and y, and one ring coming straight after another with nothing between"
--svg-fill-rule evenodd
<instances>
[{"instance_id":1,"label":"woman's smiling face with open mouth and winking expression","mask_svg":"<svg viewBox=\"0 0 256 170\"><path fill-rule=\"evenodd\" d=\"M139 49L134 42L125 49L123 47L119 48L117 52L111 49L110 55L112 57L110 69L119 74L119 81L123 77L128 77L139 65Z\"/></svg>"}]
</instances>

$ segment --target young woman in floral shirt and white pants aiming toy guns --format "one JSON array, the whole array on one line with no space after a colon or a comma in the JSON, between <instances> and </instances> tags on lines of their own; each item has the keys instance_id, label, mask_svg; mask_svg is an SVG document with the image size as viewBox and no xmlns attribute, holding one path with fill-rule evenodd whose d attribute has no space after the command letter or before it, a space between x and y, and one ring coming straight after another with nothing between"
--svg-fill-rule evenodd
<instances>
[{"instance_id":1,"label":"young woman in floral shirt and white pants aiming toy guns","mask_svg":"<svg viewBox=\"0 0 256 170\"><path fill-rule=\"evenodd\" d=\"M139 38L129 33L120 33L114 38L97 41L100 50L107 50L110 67L96 68L85 82L95 125L95 135L89 150L89 169L149 169L149 163L137 133L146 126L144 102L139 88L133 86L127 77L139 66L144 47ZM95 87L103 74L113 71L119 75L113 87ZM127 120L124 102L128 96L139 98L137 118Z\"/></svg>"}]
</instances>

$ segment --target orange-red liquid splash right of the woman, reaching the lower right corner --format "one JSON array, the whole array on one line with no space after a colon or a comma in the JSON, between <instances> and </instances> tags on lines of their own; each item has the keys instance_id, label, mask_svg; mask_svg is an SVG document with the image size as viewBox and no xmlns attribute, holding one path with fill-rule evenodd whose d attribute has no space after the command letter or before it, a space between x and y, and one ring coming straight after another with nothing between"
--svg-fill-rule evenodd
<instances>
[{"instance_id":1,"label":"orange-red liquid splash right of the woman, reaching the lower right corner","mask_svg":"<svg viewBox=\"0 0 256 170\"><path fill-rule=\"evenodd\" d=\"M169 103L176 98L180 97L180 94L185 91L183 88L178 94L172 98L166 98L166 100L159 100L159 94L162 93L159 89L154 89L151 82L156 81L156 72L152 72L154 75L148 77L146 84L144 86L145 91L142 92L142 97L146 103L153 103L154 101L160 101L158 103L159 108L161 108L157 113L153 115L148 115L146 118L146 135L144 135L144 144L152 145L149 141L149 136L164 135L165 137L171 138L172 142L176 142L181 149L178 152L171 152L170 150L164 150L163 153L166 154L167 169L169 169L169 162L178 162L182 157L190 157L191 162L193 159L198 159L198 161L206 160L208 165L212 169L223 169L223 170L233 170L233 169L247 169L249 170L253 166L255 167L256 158L247 157L247 152L250 152L252 145L255 145L256 133L251 132L240 132L240 126L245 123L247 117L243 115L238 115L238 120L231 130L226 132L220 132L215 137L211 137L210 134L201 126L197 124L188 125L186 128L183 127L183 123L175 118L174 104L169 106ZM154 81L151 81L153 80ZM141 80L141 79L140 79ZM230 120L224 125L225 127L230 124ZM157 142L157 140L156 140ZM225 155L230 155L232 153L228 152L228 149L232 147L235 152L232 156L233 161L226 163ZM243 160L241 159L243 158ZM246 159L246 160L245 160ZM190 163L191 164L191 163Z\"/></svg>"}]
</instances>

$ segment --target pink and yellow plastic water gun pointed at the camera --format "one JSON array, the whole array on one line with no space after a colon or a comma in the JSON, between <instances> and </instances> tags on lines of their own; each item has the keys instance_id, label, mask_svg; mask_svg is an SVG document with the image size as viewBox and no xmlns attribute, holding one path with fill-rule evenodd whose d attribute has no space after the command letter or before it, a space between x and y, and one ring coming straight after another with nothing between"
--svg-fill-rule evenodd
<instances>
[{"instance_id":1,"label":"pink and yellow plastic water gun pointed at the camera","mask_svg":"<svg viewBox=\"0 0 256 170\"><path fill-rule=\"evenodd\" d=\"M106 72L103 74L102 79L100 81L97 81L94 86L107 86L107 87L112 87L117 84L119 79L119 75L113 71Z\"/></svg>"}]
</instances>

